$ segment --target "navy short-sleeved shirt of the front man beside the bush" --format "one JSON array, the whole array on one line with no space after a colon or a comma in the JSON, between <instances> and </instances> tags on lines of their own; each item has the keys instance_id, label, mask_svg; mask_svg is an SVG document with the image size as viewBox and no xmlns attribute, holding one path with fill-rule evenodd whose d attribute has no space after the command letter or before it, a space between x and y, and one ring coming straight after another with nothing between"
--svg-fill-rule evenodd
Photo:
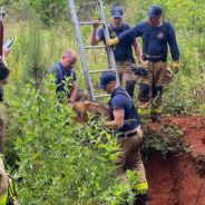
<instances>
[{"instance_id":1,"label":"navy short-sleeved shirt of the front man beside the bush","mask_svg":"<svg viewBox=\"0 0 205 205\"><path fill-rule=\"evenodd\" d=\"M118 131L125 133L133 130L139 125L139 117L135 110L131 98L121 87L118 87L113 91L110 107L113 110L125 110L124 126L119 128Z\"/></svg>"}]
</instances>

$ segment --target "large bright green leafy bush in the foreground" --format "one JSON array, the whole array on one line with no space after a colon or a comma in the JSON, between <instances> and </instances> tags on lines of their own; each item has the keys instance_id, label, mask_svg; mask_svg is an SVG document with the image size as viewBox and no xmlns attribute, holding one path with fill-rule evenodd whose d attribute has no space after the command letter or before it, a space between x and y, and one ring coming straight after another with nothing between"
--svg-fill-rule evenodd
<instances>
[{"instance_id":1,"label":"large bright green leafy bush in the foreground","mask_svg":"<svg viewBox=\"0 0 205 205\"><path fill-rule=\"evenodd\" d=\"M130 187L125 188L114 177L116 138L100 119L85 125L72 120L72 110L57 101L53 84L47 82L38 90L28 85L25 97L12 105L10 114L8 134L12 134L17 155L20 203L126 201Z\"/></svg>"}]
</instances>

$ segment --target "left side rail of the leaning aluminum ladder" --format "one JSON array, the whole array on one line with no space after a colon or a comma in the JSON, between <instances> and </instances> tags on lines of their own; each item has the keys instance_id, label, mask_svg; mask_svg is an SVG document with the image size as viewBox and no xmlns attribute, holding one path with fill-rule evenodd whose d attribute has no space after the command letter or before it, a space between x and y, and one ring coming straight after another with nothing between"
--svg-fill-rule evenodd
<instances>
[{"instance_id":1,"label":"left side rail of the leaning aluminum ladder","mask_svg":"<svg viewBox=\"0 0 205 205\"><path fill-rule=\"evenodd\" d=\"M91 79L90 79L90 76L89 76L89 69L88 69L88 66L87 66L87 59L86 59L86 53L85 53L84 42L82 42L82 36L81 36L80 27L79 27L79 23L78 23L78 17L77 17L74 0L68 0L68 4L69 4L70 11L71 11L70 12L71 13L71 21L72 21L72 25L75 27L75 32L76 32L78 47L79 47L81 65L82 65L84 76L85 76L85 79L86 79L86 86L87 86L88 95L89 95L90 100L94 101L95 100L94 88L92 88Z\"/></svg>"}]
</instances>

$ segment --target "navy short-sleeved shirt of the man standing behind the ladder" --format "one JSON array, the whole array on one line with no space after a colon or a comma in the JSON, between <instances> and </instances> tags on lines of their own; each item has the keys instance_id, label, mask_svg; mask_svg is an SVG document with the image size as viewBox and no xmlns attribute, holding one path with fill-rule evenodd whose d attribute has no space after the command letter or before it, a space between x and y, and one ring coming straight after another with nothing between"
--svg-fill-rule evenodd
<instances>
[{"instance_id":1,"label":"navy short-sleeved shirt of the man standing behind the ladder","mask_svg":"<svg viewBox=\"0 0 205 205\"><path fill-rule=\"evenodd\" d=\"M109 36L110 38L115 38L116 36L119 36L124 31L130 29L130 27L126 23L121 23L121 27L118 29L115 29L111 23L108 25L109 29ZM104 28L100 28L97 32L97 36L99 37L100 40L105 41L105 36L104 36ZM135 41L135 37L128 36L124 41L119 42L115 49L114 49L114 55L116 61L125 61L125 60L133 60L133 48L131 45Z\"/></svg>"}]
</instances>

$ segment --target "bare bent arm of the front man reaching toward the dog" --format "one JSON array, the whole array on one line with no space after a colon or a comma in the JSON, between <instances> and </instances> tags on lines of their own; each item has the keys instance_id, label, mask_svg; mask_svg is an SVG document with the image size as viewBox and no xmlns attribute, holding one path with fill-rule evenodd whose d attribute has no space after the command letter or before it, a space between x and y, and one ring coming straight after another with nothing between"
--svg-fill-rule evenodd
<instances>
[{"instance_id":1,"label":"bare bent arm of the front man reaching toward the dog","mask_svg":"<svg viewBox=\"0 0 205 205\"><path fill-rule=\"evenodd\" d=\"M124 125L125 110L114 109L114 120L105 121L105 126L109 128L120 128Z\"/></svg>"}]
</instances>

